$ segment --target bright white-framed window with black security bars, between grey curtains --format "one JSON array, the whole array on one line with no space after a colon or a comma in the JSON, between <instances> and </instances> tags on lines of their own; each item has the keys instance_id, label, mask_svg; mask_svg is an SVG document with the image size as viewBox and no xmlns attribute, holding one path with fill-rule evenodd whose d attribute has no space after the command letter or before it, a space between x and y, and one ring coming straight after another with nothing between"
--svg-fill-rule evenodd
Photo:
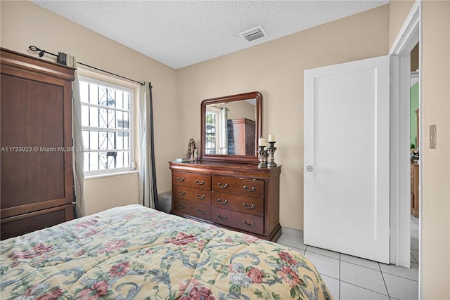
<instances>
[{"instance_id":1,"label":"bright white-framed window with black security bars, between grey curtains","mask_svg":"<svg viewBox=\"0 0 450 300\"><path fill-rule=\"evenodd\" d=\"M79 77L85 174L133 169L133 90Z\"/></svg>"}]
</instances>

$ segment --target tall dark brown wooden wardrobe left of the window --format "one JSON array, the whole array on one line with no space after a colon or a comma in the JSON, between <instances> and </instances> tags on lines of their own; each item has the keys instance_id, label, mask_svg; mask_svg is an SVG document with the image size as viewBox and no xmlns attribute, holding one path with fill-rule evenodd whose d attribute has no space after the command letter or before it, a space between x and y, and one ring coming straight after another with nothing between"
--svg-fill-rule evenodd
<instances>
[{"instance_id":1,"label":"tall dark brown wooden wardrobe left of the window","mask_svg":"<svg viewBox=\"0 0 450 300\"><path fill-rule=\"evenodd\" d=\"M1 48L1 240L74 217L74 72Z\"/></svg>"}]
</instances>

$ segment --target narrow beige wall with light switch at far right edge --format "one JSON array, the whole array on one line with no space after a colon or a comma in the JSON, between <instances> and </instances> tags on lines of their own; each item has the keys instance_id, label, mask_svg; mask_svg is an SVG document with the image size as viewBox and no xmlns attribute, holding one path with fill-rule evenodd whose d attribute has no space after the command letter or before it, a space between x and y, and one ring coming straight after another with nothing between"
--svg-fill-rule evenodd
<instances>
[{"instance_id":1,"label":"narrow beige wall with light switch at far right edge","mask_svg":"<svg viewBox=\"0 0 450 300\"><path fill-rule=\"evenodd\" d=\"M450 2L423 2L423 299L450 299Z\"/></svg>"}]
</instances>

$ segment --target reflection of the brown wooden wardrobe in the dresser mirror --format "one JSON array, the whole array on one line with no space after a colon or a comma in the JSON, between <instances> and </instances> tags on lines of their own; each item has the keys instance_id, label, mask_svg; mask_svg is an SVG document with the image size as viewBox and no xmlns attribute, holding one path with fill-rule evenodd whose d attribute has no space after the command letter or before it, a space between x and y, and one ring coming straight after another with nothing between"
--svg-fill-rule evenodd
<instances>
[{"instance_id":1,"label":"reflection of the brown wooden wardrobe in the dresser mirror","mask_svg":"<svg viewBox=\"0 0 450 300\"><path fill-rule=\"evenodd\" d=\"M229 119L227 129L229 155L255 155L255 121Z\"/></svg>"}]
</instances>

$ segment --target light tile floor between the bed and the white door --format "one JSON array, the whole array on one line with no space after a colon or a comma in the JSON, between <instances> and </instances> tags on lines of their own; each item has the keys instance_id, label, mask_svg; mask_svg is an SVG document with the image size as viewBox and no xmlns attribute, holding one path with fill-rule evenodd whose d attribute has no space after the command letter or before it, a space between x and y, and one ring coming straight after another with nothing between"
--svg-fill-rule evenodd
<instances>
[{"instance_id":1,"label":"light tile floor between the bed and the white door","mask_svg":"<svg viewBox=\"0 0 450 300\"><path fill-rule=\"evenodd\" d=\"M401 268L307 246L300 235L283 231L279 244L307 256L335 300L418 299L418 219L411 216L411 268Z\"/></svg>"}]
</instances>

